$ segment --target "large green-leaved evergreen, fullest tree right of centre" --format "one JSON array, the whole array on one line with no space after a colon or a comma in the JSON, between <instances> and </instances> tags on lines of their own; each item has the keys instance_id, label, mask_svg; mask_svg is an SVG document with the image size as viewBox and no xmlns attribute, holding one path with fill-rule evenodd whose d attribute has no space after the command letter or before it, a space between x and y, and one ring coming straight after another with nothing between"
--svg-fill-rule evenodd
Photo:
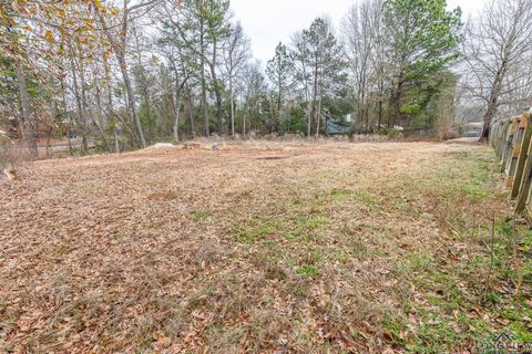
<instances>
[{"instance_id":1,"label":"large green-leaved evergreen, fullest tree right of centre","mask_svg":"<svg viewBox=\"0 0 532 354\"><path fill-rule=\"evenodd\" d=\"M446 0L387 0L387 27L391 79L392 124L402 124L403 114L416 105L408 102L413 90L458 56L461 10L447 11Z\"/></svg>"}]
</instances>

